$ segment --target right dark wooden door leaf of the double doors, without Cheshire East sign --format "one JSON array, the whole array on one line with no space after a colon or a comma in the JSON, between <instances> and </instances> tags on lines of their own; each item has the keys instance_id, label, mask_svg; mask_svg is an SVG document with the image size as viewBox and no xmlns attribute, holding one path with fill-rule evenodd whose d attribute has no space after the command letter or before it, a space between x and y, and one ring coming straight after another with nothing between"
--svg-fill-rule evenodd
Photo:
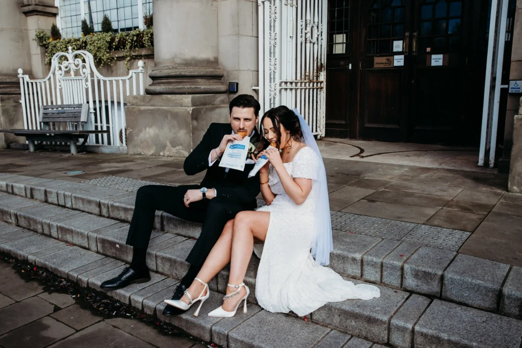
<instances>
[{"instance_id":1,"label":"right dark wooden door leaf of the double doors, without Cheshire East sign","mask_svg":"<svg viewBox=\"0 0 522 348\"><path fill-rule=\"evenodd\" d=\"M408 140L456 145L465 139L471 0L419 0L413 13ZM478 93L476 98L481 98Z\"/></svg>"}]
</instances>

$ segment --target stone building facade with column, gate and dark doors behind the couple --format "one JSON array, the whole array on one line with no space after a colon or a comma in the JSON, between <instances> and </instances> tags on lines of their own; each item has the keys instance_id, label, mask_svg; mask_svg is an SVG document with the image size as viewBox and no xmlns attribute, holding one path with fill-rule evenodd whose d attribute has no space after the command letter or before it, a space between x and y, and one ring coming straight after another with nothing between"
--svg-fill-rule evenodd
<instances>
[{"instance_id":1,"label":"stone building facade with column, gate and dark doors behind the couple","mask_svg":"<svg viewBox=\"0 0 522 348\"><path fill-rule=\"evenodd\" d=\"M0 63L4 96L16 95L18 68L37 78L46 75L42 49L32 40L36 30L56 22L65 37L78 36L81 19L98 31L108 15L115 32L128 31L144 28L153 14L146 94L125 100L127 151L180 156L192 150L210 122L226 121L234 95L229 82L258 97L264 109L277 103L300 107L321 136L477 147L489 86L491 16L500 16L502 7L502 0L8 3L0 15L7 29L0 33L10 39L1 42L9 45L4 52L14 53ZM517 47L522 4L504 3L503 86L522 79ZM501 92L492 129L495 156L502 157L505 170L518 141L513 129L519 96Z\"/></svg>"}]
</instances>

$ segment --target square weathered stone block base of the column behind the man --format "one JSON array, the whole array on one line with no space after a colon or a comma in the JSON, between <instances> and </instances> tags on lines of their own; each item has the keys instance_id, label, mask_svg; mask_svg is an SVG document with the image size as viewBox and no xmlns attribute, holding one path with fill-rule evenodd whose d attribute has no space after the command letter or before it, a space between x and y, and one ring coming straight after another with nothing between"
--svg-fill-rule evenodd
<instances>
[{"instance_id":1,"label":"square weathered stone block base of the column behind the man","mask_svg":"<svg viewBox=\"0 0 522 348\"><path fill-rule=\"evenodd\" d=\"M127 99L127 153L187 157L213 122L229 122L227 94L133 95Z\"/></svg>"}]
</instances>

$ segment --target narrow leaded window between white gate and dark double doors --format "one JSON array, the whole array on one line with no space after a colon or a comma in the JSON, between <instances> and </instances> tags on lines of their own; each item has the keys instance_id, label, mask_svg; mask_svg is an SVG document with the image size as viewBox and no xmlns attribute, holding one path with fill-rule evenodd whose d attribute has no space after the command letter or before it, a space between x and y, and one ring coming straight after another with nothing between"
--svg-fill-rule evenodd
<instances>
[{"instance_id":1,"label":"narrow leaded window between white gate and dark double doors","mask_svg":"<svg viewBox=\"0 0 522 348\"><path fill-rule=\"evenodd\" d=\"M328 53L350 53L350 0L330 0L328 5Z\"/></svg>"}]
</instances>

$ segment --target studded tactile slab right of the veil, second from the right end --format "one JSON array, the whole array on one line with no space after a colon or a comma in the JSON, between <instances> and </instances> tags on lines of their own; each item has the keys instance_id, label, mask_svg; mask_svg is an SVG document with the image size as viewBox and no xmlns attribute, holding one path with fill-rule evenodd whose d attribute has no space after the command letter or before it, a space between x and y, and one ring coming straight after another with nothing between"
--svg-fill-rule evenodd
<instances>
[{"instance_id":1,"label":"studded tactile slab right of the veil, second from the right end","mask_svg":"<svg viewBox=\"0 0 522 348\"><path fill-rule=\"evenodd\" d=\"M399 240L410 232L417 224L411 222L388 220L361 216L347 224L349 232L378 238Z\"/></svg>"}]
</instances>

